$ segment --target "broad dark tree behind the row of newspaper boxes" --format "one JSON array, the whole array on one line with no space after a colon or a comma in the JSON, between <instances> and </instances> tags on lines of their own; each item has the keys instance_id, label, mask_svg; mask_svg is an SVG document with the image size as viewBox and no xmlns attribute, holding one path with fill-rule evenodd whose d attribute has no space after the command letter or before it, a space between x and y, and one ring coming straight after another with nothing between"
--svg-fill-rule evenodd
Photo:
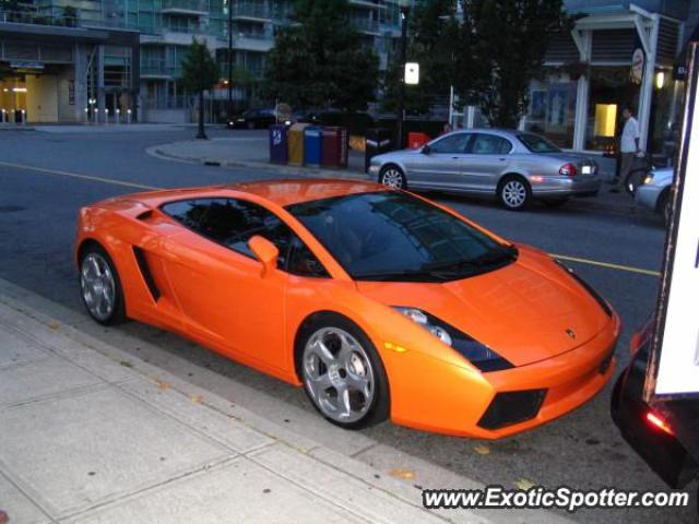
<instances>
[{"instance_id":1,"label":"broad dark tree behind the row of newspaper boxes","mask_svg":"<svg viewBox=\"0 0 699 524\"><path fill-rule=\"evenodd\" d=\"M378 59L362 45L347 0L296 0L292 22L268 55L262 94L295 107L366 109Z\"/></svg>"}]
</instances>

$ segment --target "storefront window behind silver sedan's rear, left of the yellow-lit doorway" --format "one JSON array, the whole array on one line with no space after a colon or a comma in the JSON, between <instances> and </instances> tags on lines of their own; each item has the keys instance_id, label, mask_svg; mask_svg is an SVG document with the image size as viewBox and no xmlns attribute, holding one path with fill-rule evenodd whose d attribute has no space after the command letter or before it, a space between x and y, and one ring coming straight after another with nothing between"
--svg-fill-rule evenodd
<instances>
[{"instance_id":1,"label":"storefront window behind silver sedan's rear, left of the yellow-lit doorway","mask_svg":"<svg viewBox=\"0 0 699 524\"><path fill-rule=\"evenodd\" d=\"M566 74L532 82L524 130L546 136L560 147L572 147L578 83Z\"/></svg>"}]
</instances>

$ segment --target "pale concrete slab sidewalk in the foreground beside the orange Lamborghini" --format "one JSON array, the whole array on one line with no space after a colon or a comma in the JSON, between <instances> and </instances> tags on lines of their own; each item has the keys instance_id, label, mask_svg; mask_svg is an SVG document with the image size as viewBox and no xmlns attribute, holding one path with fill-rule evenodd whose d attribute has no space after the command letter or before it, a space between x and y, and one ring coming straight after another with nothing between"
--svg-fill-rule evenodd
<instances>
[{"instance_id":1,"label":"pale concrete slab sidewalk in the foreground beside the orange Lamborghini","mask_svg":"<svg viewBox=\"0 0 699 524\"><path fill-rule=\"evenodd\" d=\"M0 295L11 524L447 522L415 487L104 346Z\"/></svg>"}]
</instances>

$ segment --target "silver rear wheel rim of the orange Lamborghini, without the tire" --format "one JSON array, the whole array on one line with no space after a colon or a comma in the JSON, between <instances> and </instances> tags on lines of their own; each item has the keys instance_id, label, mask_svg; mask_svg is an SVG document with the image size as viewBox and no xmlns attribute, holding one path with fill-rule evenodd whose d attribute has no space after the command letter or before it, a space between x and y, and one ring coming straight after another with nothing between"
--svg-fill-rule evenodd
<instances>
[{"instance_id":1,"label":"silver rear wheel rim of the orange Lamborghini, without the tire","mask_svg":"<svg viewBox=\"0 0 699 524\"><path fill-rule=\"evenodd\" d=\"M83 259L80 287L85 306L95 319L106 321L114 313L117 284L107 261L92 252Z\"/></svg>"}]
</instances>

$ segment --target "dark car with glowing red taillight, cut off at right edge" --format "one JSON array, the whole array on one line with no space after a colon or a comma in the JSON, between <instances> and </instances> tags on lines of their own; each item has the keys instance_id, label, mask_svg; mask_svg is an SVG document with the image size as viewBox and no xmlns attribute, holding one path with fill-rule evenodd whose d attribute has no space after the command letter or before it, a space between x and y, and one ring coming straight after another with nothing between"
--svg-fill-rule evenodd
<instances>
[{"instance_id":1,"label":"dark car with glowing red taillight, cut off at right edge","mask_svg":"<svg viewBox=\"0 0 699 524\"><path fill-rule=\"evenodd\" d=\"M631 338L631 360L612 393L612 419L624 439L673 488L699 476L699 400L643 401L653 322Z\"/></svg>"}]
</instances>

